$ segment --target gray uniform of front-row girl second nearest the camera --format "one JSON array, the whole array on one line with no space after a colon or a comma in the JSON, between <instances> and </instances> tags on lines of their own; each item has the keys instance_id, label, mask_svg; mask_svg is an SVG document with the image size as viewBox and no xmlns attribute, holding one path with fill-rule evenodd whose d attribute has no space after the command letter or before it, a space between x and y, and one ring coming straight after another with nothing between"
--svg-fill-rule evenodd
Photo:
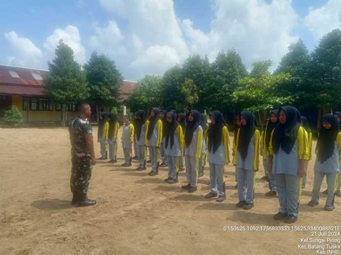
<instances>
[{"instance_id":1,"label":"gray uniform of front-row girl second nearest the camera","mask_svg":"<svg viewBox=\"0 0 341 255\"><path fill-rule=\"evenodd\" d=\"M247 147L245 160L237 151L237 186L239 201L254 202L254 159L255 159L255 135L251 138Z\"/></svg>"}]
</instances>

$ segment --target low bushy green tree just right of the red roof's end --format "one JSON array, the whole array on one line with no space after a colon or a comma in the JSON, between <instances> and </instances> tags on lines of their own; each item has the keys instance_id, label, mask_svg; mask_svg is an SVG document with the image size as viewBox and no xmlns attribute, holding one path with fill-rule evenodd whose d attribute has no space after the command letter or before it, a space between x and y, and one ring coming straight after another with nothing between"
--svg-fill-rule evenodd
<instances>
[{"instance_id":1,"label":"low bushy green tree just right of the red roof's end","mask_svg":"<svg viewBox=\"0 0 341 255\"><path fill-rule=\"evenodd\" d=\"M162 78L155 75L146 75L138 81L138 86L127 99L132 112L140 109L148 112L154 106L162 105L161 96Z\"/></svg>"}]
</instances>

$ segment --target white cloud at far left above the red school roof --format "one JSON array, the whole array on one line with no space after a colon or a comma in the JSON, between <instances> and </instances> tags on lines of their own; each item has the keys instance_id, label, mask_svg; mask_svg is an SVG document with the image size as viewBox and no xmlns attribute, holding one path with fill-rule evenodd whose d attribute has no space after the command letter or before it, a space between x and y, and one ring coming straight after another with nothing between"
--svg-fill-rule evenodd
<instances>
[{"instance_id":1,"label":"white cloud at far left above the red school roof","mask_svg":"<svg viewBox=\"0 0 341 255\"><path fill-rule=\"evenodd\" d=\"M39 65L42 61L41 50L34 43L25 37L19 37L15 31L5 33L5 38L16 51L17 57L7 57L10 65Z\"/></svg>"}]
</instances>

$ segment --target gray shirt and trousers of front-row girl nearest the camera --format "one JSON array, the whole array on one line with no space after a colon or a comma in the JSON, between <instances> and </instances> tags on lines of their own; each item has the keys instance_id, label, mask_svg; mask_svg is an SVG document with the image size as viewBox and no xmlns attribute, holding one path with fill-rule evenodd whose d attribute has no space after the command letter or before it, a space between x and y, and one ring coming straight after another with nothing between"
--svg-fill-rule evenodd
<instances>
[{"instance_id":1,"label":"gray shirt and trousers of front-row girl nearest the camera","mask_svg":"<svg viewBox=\"0 0 341 255\"><path fill-rule=\"evenodd\" d=\"M277 188L280 202L279 212L288 215L298 216L298 203L300 191L300 177L298 169L300 166L299 143L295 141L290 154L286 154L280 146L277 154L274 155L272 172L275 176L275 186Z\"/></svg>"}]
</instances>

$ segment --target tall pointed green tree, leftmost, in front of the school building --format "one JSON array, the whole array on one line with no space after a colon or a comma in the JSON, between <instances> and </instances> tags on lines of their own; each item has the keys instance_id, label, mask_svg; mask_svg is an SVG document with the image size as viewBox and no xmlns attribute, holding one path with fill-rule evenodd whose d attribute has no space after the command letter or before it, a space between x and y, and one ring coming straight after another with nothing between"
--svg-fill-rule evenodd
<instances>
[{"instance_id":1,"label":"tall pointed green tree, leftmost, in front of the school building","mask_svg":"<svg viewBox=\"0 0 341 255\"><path fill-rule=\"evenodd\" d=\"M72 48L60 40L55 58L48 62L49 75L43 80L44 94L62 105L62 125L65 126L67 105L77 104L89 95L81 66L74 60Z\"/></svg>"}]
</instances>

